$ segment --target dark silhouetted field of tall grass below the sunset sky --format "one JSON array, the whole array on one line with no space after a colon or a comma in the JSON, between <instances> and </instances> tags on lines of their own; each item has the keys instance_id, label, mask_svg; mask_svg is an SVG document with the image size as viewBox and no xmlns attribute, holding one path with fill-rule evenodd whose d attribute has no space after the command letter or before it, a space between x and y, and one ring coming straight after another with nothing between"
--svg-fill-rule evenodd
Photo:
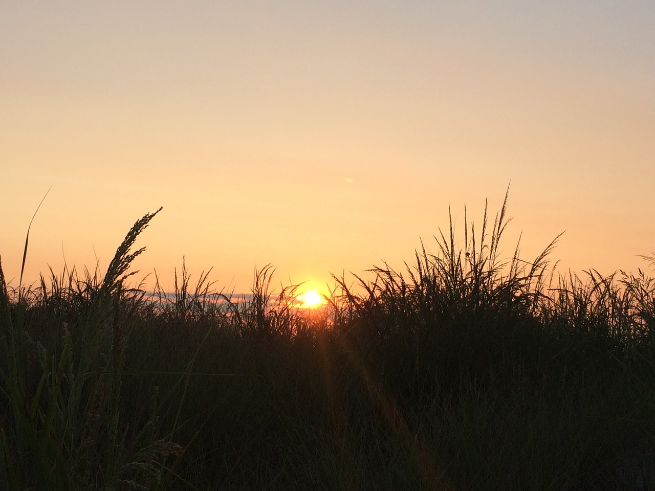
<instances>
[{"instance_id":1,"label":"dark silhouetted field of tall grass below the sunset sky","mask_svg":"<svg viewBox=\"0 0 655 491\"><path fill-rule=\"evenodd\" d=\"M0 490L655 488L655 283L546 277L465 224L307 313L0 268ZM127 276L126 276L127 275ZM275 295L278 297L278 295Z\"/></svg>"}]
</instances>

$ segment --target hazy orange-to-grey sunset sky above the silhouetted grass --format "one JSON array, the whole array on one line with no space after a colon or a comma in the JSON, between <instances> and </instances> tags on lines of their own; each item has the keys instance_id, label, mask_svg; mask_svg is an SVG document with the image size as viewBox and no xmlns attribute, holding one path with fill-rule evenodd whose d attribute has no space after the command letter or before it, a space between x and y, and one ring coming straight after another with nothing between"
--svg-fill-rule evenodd
<instances>
[{"instance_id":1,"label":"hazy orange-to-grey sunset sky above the silhouetted grass","mask_svg":"<svg viewBox=\"0 0 655 491\"><path fill-rule=\"evenodd\" d=\"M510 185L502 252L649 270L655 2L0 1L0 258L247 292L436 252ZM511 183L511 184L510 184ZM463 234L460 233L463 240ZM184 259L183 259L184 258ZM655 274L655 271L653 272Z\"/></svg>"}]
</instances>

